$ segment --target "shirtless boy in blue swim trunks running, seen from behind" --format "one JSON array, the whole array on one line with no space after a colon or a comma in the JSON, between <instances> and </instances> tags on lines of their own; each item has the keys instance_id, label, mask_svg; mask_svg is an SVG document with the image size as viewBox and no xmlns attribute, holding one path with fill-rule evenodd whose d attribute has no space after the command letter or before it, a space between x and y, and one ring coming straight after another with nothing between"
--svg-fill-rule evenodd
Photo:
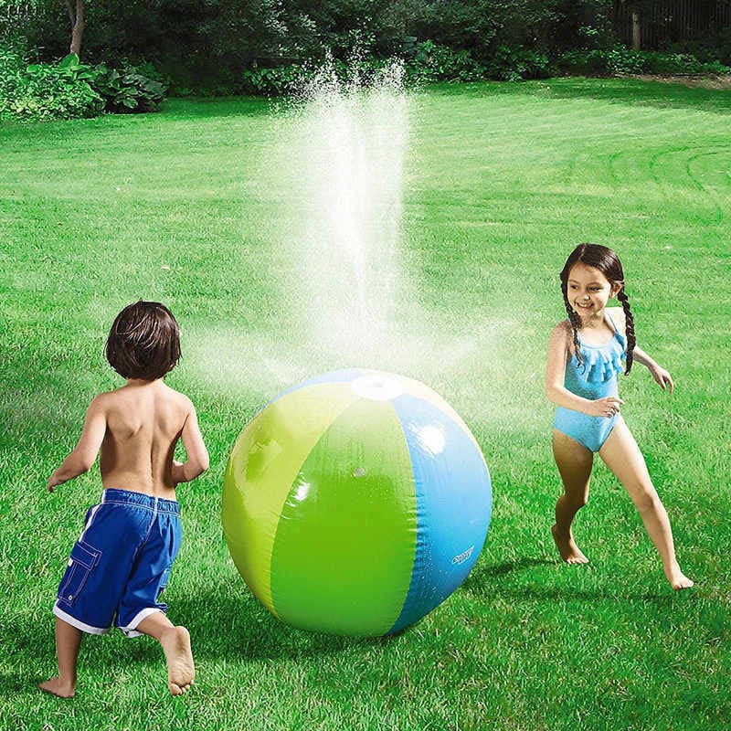
<instances>
[{"instance_id":1,"label":"shirtless boy in blue swim trunks running, seen from behind","mask_svg":"<svg viewBox=\"0 0 731 731\"><path fill-rule=\"evenodd\" d=\"M112 620L128 637L163 647L170 693L193 683L190 635L159 603L181 541L175 485L208 468L190 399L164 384L180 358L175 317L159 302L135 302L111 325L106 355L127 383L95 397L76 445L48 480L48 492L89 471L101 450L101 503L87 514L53 608L58 677L38 687L74 695L81 632L102 634ZM187 461L174 461L177 440Z\"/></svg>"}]
</instances>

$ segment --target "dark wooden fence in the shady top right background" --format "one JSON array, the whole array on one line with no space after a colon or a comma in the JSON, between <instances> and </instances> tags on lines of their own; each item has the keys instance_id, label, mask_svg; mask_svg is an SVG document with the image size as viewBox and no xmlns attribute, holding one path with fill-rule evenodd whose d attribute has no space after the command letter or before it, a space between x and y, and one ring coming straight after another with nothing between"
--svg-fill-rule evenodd
<instances>
[{"instance_id":1,"label":"dark wooden fence in the shady top right background","mask_svg":"<svg viewBox=\"0 0 731 731\"><path fill-rule=\"evenodd\" d=\"M614 2L614 30L635 48L703 41L729 26L731 0L654 0L639 10L630 0Z\"/></svg>"}]
</instances>

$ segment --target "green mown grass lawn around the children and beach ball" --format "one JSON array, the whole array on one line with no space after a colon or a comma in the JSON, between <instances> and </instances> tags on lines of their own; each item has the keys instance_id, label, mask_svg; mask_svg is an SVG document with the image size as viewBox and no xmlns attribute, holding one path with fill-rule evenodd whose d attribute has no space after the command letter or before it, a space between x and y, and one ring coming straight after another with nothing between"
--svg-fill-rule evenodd
<instances>
[{"instance_id":1,"label":"green mown grass lawn around the children and beach ball","mask_svg":"<svg viewBox=\"0 0 731 731\"><path fill-rule=\"evenodd\" d=\"M440 86L409 101L400 348L324 347L302 327L306 175L265 101L171 100L158 114L0 127L0 728L719 729L731 718L731 97L629 79ZM293 151L291 151L293 152ZM299 170L299 173L298 173ZM578 545L559 562L543 390L579 241L617 250L641 365L620 381L696 587L673 594L628 495L600 463ZM304 286L303 286L304 285ZM172 699L154 641L89 638L71 702L51 606L96 471L49 495L90 398L121 385L114 315L167 303L211 469L179 490L184 546L167 590L198 676ZM409 335L413 335L410 337ZM471 576L391 640L291 630L238 578L219 520L228 451L302 377L401 372L461 413L493 478Z\"/></svg>"}]
</instances>

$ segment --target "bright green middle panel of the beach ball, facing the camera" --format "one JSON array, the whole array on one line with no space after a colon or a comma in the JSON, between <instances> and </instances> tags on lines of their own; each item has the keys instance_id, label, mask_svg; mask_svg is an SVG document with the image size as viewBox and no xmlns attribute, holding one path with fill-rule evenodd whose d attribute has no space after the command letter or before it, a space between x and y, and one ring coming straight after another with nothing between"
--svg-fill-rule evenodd
<instances>
[{"instance_id":1,"label":"bright green middle panel of the beach ball, facing the camera","mask_svg":"<svg viewBox=\"0 0 731 731\"><path fill-rule=\"evenodd\" d=\"M414 478L396 411L359 400L323 433L281 509L275 612L302 629L385 633L408 593L416 539Z\"/></svg>"}]
</instances>

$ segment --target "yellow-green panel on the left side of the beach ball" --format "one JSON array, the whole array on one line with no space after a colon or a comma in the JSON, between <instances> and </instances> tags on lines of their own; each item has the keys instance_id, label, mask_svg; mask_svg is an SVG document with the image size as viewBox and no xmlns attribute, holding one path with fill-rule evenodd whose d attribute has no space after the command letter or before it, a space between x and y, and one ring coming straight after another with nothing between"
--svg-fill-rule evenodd
<instances>
[{"instance_id":1,"label":"yellow-green panel on the left side of the beach ball","mask_svg":"<svg viewBox=\"0 0 731 731\"><path fill-rule=\"evenodd\" d=\"M271 550L282 505L310 450L356 398L349 384L292 391L260 411L231 451L222 507L228 550L251 591L275 614Z\"/></svg>"}]
</instances>

